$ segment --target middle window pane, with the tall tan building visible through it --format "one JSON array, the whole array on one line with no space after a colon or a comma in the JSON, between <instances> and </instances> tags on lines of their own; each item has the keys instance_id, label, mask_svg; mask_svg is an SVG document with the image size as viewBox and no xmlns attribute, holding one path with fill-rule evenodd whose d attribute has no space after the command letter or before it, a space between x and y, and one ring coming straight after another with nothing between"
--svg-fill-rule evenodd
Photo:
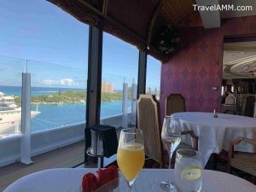
<instances>
[{"instance_id":1,"label":"middle window pane, with the tall tan building visible through it","mask_svg":"<svg viewBox=\"0 0 256 192\"><path fill-rule=\"evenodd\" d=\"M119 127L122 125L123 104L127 113L131 113L131 86L137 84L138 50L106 32L103 33L103 39L101 119L108 118L103 124ZM124 83L128 98L125 103ZM117 117L109 118L113 116Z\"/></svg>"}]
</instances>

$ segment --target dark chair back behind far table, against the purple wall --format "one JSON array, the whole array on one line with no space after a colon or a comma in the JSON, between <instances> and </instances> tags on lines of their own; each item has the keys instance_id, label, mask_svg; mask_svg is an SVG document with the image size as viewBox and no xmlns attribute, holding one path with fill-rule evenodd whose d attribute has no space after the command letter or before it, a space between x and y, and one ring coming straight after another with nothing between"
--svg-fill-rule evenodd
<instances>
[{"instance_id":1,"label":"dark chair back behind far table, against the purple wall","mask_svg":"<svg viewBox=\"0 0 256 192\"><path fill-rule=\"evenodd\" d=\"M170 94L166 97L166 115L185 111L185 98L181 94Z\"/></svg>"}]
</instances>

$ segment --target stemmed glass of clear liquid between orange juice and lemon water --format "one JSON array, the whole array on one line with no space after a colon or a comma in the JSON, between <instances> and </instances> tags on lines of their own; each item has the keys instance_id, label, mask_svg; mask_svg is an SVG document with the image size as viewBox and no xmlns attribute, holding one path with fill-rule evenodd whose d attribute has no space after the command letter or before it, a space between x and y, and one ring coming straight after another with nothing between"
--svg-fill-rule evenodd
<instances>
[{"instance_id":1,"label":"stemmed glass of clear liquid between orange juice and lemon water","mask_svg":"<svg viewBox=\"0 0 256 192\"><path fill-rule=\"evenodd\" d=\"M164 147L169 154L169 169L171 169L172 154L181 141L181 126L179 119L171 116L165 117L161 132L161 138ZM161 182L160 186L167 191L177 191L175 186L171 183L171 177L168 178L168 181Z\"/></svg>"}]
</instances>

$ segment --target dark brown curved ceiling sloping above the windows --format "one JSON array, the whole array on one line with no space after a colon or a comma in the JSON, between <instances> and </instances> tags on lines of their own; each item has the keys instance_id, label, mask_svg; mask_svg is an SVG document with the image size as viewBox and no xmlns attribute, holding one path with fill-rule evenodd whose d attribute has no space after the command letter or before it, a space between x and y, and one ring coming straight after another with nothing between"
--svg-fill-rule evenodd
<instances>
[{"instance_id":1,"label":"dark brown curved ceiling sloping above the windows","mask_svg":"<svg viewBox=\"0 0 256 192\"><path fill-rule=\"evenodd\" d=\"M195 11L195 0L48 0L78 20L98 26L104 21L104 31L134 44L160 61L168 55L154 46L161 26L175 26Z\"/></svg>"}]
</instances>

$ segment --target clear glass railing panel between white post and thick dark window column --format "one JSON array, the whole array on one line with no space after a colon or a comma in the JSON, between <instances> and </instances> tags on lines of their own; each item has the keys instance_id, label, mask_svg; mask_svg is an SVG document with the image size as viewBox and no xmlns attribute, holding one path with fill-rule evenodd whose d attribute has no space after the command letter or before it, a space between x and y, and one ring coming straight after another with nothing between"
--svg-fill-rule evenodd
<instances>
[{"instance_id":1,"label":"clear glass railing panel between white post and thick dark window column","mask_svg":"<svg viewBox=\"0 0 256 192\"><path fill-rule=\"evenodd\" d=\"M31 73L32 132L85 122L85 69L27 61L27 73Z\"/></svg>"}]
</instances>

